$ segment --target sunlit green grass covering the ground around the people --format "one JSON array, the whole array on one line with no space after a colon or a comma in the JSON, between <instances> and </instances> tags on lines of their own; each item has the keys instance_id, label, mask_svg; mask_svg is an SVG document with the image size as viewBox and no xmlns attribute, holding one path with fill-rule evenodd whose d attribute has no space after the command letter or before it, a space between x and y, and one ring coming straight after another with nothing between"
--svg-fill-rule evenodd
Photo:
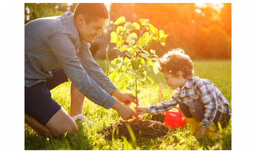
<instances>
[{"instance_id":1,"label":"sunlit green grass covering the ground around the people","mask_svg":"<svg viewBox=\"0 0 256 153\"><path fill-rule=\"evenodd\" d=\"M105 72L105 62L96 61ZM232 100L231 92L231 60L227 61L194 61L195 76L205 78L212 81L216 87L222 92L224 97L230 103ZM142 90L138 98L140 106L151 106L158 103L158 83L163 83L163 100L169 100L173 91L168 87L161 74L154 75L149 73L153 78L154 84L148 83ZM51 90L52 98L60 104L69 113L69 86L70 81L60 84ZM122 89L123 92L129 92ZM132 109L135 104L132 104ZM232 110L231 110L232 111ZM231 125L223 129L222 138L216 140L200 140L197 141L194 135L190 135L190 126L185 124L181 129L176 129L173 133L171 130L166 137L160 137L155 140L144 140L141 138L136 141L136 145L132 141L121 140L105 140L102 135L98 134L104 127L116 123L121 120L117 112L113 109L104 109L101 106L94 104L85 98L83 114L96 126L87 127L78 124L79 132L74 135L66 135L63 138L47 138L46 136L38 135L32 129L24 124L25 130L25 149L79 149L79 150L215 150L224 149L231 150ZM143 120L151 120L151 115L145 114L140 116Z\"/></svg>"}]
</instances>

